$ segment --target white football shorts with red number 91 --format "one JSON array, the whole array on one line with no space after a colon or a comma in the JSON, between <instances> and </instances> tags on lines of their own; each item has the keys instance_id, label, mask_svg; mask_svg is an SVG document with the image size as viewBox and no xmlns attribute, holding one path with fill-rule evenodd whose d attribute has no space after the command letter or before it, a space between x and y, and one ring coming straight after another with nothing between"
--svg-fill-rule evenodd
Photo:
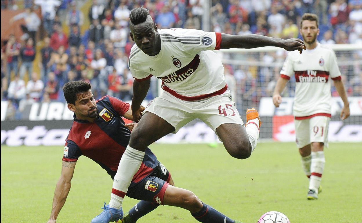
<instances>
[{"instance_id":1,"label":"white football shorts with red number 91","mask_svg":"<svg viewBox=\"0 0 362 223\"><path fill-rule=\"evenodd\" d=\"M323 142L328 147L330 117L315 116L310 119L294 120L296 145L300 149L312 142Z\"/></svg>"}]
</instances>

